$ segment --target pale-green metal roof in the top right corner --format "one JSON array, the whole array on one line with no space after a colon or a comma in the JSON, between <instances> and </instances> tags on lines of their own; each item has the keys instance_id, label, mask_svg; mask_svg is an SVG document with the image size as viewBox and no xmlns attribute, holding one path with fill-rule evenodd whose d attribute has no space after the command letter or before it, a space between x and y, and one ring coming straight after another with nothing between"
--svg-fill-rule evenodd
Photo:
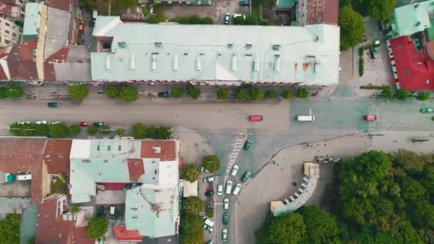
<instances>
[{"instance_id":1,"label":"pale-green metal roof in the top right corner","mask_svg":"<svg viewBox=\"0 0 434 244\"><path fill-rule=\"evenodd\" d=\"M392 36L410 36L430 27L430 12L434 11L434 0L400 6L390 16Z\"/></svg>"}]
</instances>

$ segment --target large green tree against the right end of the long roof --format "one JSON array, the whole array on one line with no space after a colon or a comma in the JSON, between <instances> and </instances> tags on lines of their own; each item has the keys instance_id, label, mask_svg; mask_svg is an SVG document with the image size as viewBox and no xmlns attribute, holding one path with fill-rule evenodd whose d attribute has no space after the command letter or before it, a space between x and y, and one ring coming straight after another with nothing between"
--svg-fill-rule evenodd
<instances>
[{"instance_id":1,"label":"large green tree against the right end of the long roof","mask_svg":"<svg viewBox=\"0 0 434 244\"><path fill-rule=\"evenodd\" d=\"M340 9L339 26L341 50L348 50L362 41L363 34L365 34L363 17L350 6Z\"/></svg>"}]
</instances>

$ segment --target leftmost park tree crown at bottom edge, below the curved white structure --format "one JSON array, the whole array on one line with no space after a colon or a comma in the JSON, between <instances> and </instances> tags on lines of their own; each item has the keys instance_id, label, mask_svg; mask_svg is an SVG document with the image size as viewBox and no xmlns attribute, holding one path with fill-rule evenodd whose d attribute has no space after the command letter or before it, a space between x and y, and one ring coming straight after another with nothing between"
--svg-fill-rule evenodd
<instances>
[{"instance_id":1,"label":"leftmost park tree crown at bottom edge, below the curved white structure","mask_svg":"<svg viewBox=\"0 0 434 244\"><path fill-rule=\"evenodd\" d=\"M271 220L268 241L279 244L298 243L306 233L306 225L299 213L285 213Z\"/></svg>"}]
</instances>

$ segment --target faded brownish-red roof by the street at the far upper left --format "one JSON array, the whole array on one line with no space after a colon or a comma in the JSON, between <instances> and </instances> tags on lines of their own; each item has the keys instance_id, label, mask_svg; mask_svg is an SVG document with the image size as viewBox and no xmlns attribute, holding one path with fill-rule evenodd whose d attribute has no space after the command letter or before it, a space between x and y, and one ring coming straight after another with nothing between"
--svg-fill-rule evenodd
<instances>
[{"instance_id":1,"label":"faded brownish-red roof by the street at the far upper left","mask_svg":"<svg viewBox=\"0 0 434 244\"><path fill-rule=\"evenodd\" d=\"M6 61L8 61L11 79L38 79L36 62L33 61L33 50L36 40L25 40L23 44L15 44Z\"/></svg>"}]
</instances>

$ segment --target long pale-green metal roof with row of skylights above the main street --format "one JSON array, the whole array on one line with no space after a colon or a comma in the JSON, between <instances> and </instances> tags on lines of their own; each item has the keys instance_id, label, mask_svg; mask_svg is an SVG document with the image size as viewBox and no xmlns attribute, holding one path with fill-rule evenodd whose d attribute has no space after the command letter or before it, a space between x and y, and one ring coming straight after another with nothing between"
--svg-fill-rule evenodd
<instances>
[{"instance_id":1,"label":"long pale-green metal roof with row of skylights above the main street","mask_svg":"<svg viewBox=\"0 0 434 244\"><path fill-rule=\"evenodd\" d=\"M99 16L94 36L111 52L91 53L93 80L246 81L338 84L339 27L122 23Z\"/></svg>"}]
</instances>

